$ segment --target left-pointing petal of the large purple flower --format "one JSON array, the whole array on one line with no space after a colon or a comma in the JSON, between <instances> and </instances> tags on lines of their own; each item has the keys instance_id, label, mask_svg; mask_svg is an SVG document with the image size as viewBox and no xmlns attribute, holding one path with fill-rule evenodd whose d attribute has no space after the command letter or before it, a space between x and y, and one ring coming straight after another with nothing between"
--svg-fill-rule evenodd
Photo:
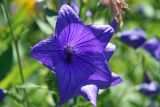
<instances>
[{"instance_id":1,"label":"left-pointing petal of the large purple flower","mask_svg":"<svg viewBox=\"0 0 160 107\"><path fill-rule=\"evenodd\" d=\"M39 60L51 70L54 70L55 64L59 60L58 55L61 52L62 50L57 44L54 36L40 41L31 49L32 57Z\"/></svg>"}]
</instances>

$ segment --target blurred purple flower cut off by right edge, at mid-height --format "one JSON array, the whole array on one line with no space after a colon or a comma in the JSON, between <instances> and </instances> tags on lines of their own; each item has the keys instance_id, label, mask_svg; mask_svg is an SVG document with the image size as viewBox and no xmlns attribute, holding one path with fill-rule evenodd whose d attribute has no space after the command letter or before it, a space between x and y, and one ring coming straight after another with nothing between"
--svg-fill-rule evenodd
<instances>
[{"instance_id":1,"label":"blurred purple flower cut off by right edge, at mid-height","mask_svg":"<svg viewBox=\"0 0 160 107\"><path fill-rule=\"evenodd\" d=\"M148 51L156 60L160 61L160 42L156 37L145 42L143 48Z\"/></svg>"}]
</instances>

